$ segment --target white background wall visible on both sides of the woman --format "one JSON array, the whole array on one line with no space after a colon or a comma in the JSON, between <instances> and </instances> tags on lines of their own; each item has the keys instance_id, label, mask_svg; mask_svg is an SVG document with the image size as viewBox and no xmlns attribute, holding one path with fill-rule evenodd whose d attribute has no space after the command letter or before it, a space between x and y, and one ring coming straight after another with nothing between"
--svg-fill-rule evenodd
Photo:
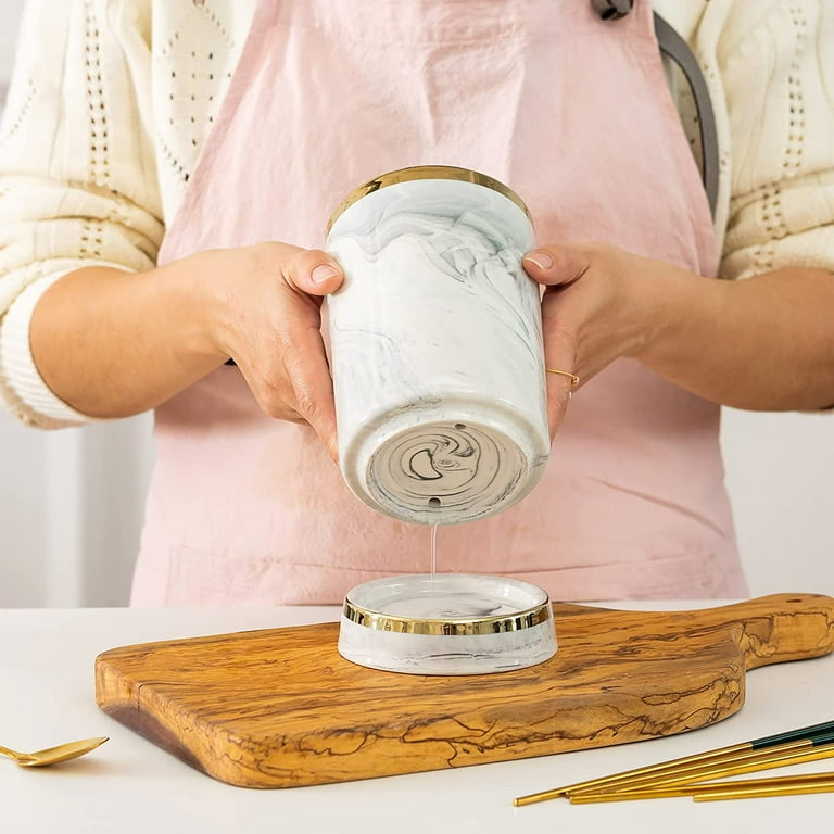
<instances>
[{"instance_id":1,"label":"white background wall visible on both sides of the woman","mask_svg":"<svg viewBox=\"0 0 834 834\"><path fill-rule=\"evenodd\" d=\"M22 7L0 0L0 89ZM726 409L722 442L753 594L834 593L834 413ZM0 607L124 605L151 458L148 416L46 434L0 414Z\"/></svg>"}]
</instances>

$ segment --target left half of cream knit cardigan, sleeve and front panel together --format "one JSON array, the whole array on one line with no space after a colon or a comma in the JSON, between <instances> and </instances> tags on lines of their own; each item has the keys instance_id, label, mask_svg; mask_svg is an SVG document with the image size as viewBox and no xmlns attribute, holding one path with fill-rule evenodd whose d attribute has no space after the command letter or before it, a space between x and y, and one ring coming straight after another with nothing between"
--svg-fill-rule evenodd
<instances>
[{"instance_id":1,"label":"left half of cream knit cardigan, sleeve and front panel together","mask_svg":"<svg viewBox=\"0 0 834 834\"><path fill-rule=\"evenodd\" d=\"M255 0L29 0L0 127L0 401L42 428L88 418L46 386L35 305L84 266L155 265Z\"/></svg>"}]
</instances>

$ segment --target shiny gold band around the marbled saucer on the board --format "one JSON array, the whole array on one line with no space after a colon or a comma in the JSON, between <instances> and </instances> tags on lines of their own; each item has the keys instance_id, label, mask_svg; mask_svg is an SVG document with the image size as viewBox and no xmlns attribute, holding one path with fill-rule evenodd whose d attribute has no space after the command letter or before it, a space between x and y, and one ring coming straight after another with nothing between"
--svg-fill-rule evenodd
<instances>
[{"instance_id":1,"label":"shiny gold band around the marbled saucer on the board","mask_svg":"<svg viewBox=\"0 0 834 834\"><path fill-rule=\"evenodd\" d=\"M342 616L350 622L366 629L388 631L394 634L431 634L441 636L472 636L476 634L502 634L508 631L523 631L541 626L553 618L551 601L516 614L500 614L495 617L460 619L420 619L381 614L345 599Z\"/></svg>"}]
</instances>

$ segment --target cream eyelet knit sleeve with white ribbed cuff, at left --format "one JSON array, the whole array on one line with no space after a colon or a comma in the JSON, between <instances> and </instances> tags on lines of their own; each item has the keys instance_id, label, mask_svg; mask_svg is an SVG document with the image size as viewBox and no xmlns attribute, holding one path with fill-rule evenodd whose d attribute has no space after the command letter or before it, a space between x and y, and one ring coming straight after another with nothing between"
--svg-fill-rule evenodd
<instances>
[{"instance_id":1,"label":"cream eyelet knit sleeve with white ribbed cuff, at left","mask_svg":"<svg viewBox=\"0 0 834 834\"><path fill-rule=\"evenodd\" d=\"M150 17L143 0L30 0L24 14L0 126L0 395L30 425L87 420L31 361L42 291L85 266L151 268L162 241Z\"/></svg>"}]
</instances>

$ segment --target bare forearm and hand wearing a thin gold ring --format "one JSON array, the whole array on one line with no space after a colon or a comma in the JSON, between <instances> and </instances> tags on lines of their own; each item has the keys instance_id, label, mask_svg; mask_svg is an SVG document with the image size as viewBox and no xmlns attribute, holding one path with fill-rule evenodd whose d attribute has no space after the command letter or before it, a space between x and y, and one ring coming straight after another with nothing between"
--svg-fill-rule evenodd
<instances>
[{"instance_id":1,"label":"bare forearm and hand wearing a thin gold ring","mask_svg":"<svg viewBox=\"0 0 834 834\"><path fill-rule=\"evenodd\" d=\"M545 287L545 364L580 384L620 356L706 400L756 410L834 404L834 275L800 266L726 281L605 243L523 258ZM547 375L556 432L570 380Z\"/></svg>"}]
</instances>

